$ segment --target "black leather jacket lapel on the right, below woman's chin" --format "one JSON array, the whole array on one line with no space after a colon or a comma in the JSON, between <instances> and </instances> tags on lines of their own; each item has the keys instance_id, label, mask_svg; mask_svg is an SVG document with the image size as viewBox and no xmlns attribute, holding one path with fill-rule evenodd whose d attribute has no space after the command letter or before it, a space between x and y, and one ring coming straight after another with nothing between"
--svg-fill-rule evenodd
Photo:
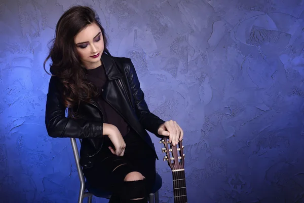
<instances>
[{"instance_id":1,"label":"black leather jacket lapel on the right, below woman's chin","mask_svg":"<svg viewBox=\"0 0 304 203\"><path fill-rule=\"evenodd\" d=\"M112 56L103 53L101 55L101 62L103 64L105 74L109 80L114 80L123 77Z\"/></svg>"}]
</instances>

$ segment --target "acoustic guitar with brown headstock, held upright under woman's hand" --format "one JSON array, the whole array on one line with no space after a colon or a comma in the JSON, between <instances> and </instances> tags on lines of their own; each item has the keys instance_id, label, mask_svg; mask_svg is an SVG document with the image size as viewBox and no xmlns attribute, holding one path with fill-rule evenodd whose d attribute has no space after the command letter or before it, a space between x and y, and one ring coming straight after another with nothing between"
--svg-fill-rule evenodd
<instances>
[{"instance_id":1,"label":"acoustic guitar with brown headstock, held upright under woman's hand","mask_svg":"<svg viewBox=\"0 0 304 203\"><path fill-rule=\"evenodd\" d=\"M184 154L182 141L173 146L169 139L162 139L160 143L164 144L162 152L166 153L164 161L168 162L173 176L173 195L174 203L187 203L186 179L184 170Z\"/></svg>"}]
</instances>

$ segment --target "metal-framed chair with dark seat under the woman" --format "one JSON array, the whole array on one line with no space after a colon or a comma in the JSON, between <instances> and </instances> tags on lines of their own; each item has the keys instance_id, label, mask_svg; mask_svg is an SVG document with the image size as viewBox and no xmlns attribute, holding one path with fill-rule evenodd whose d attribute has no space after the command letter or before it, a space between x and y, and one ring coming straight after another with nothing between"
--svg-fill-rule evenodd
<instances>
[{"instance_id":1,"label":"metal-framed chair with dark seat under the woman","mask_svg":"<svg viewBox=\"0 0 304 203\"><path fill-rule=\"evenodd\" d=\"M90 184L85 181L85 177L82 171L82 167L80 165L80 157L77 147L77 142L75 138L70 138L72 149L74 153L74 158L76 162L76 167L78 171L78 176L80 180L80 190L79 190L79 197L78 197L78 203L83 203L83 200L85 197L88 197L88 203L92 203L92 197L97 196L101 198L110 199L111 193L108 191L100 191L98 189L90 187ZM151 193L148 196L149 203L159 203L159 189L162 187L162 178L159 174L156 174L156 180L155 185L151 191Z\"/></svg>"}]
</instances>

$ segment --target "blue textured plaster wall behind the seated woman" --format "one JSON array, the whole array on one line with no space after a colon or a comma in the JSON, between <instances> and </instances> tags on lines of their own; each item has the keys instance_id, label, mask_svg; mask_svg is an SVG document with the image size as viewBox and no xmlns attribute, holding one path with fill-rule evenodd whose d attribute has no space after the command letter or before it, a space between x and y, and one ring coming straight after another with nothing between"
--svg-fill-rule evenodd
<instances>
[{"instance_id":1,"label":"blue textured plaster wall behind the seated woman","mask_svg":"<svg viewBox=\"0 0 304 203\"><path fill-rule=\"evenodd\" d=\"M0 1L0 202L77 201L70 141L45 129L42 66L73 4L96 9L150 110L185 130L189 202L303 202L300 0ZM169 166L157 167L173 202Z\"/></svg>"}]
</instances>

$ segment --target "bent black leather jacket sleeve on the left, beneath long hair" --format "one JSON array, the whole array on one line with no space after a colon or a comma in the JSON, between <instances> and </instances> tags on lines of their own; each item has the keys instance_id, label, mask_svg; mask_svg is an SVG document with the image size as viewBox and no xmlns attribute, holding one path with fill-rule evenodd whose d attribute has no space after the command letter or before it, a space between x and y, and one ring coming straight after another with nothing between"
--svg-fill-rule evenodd
<instances>
[{"instance_id":1,"label":"bent black leather jacket sleeve on the left, beneath long hair","mask_svg":"<svg viewBox=\"0 0 304 203\"><path fill-rule=\"evenodd\" d=\"M65 106L59 90L60 81L52 76L47 94L45 123L53 138L96 138L102 136L102 123L65 117Z\"/></svg>"}]
</instances>

